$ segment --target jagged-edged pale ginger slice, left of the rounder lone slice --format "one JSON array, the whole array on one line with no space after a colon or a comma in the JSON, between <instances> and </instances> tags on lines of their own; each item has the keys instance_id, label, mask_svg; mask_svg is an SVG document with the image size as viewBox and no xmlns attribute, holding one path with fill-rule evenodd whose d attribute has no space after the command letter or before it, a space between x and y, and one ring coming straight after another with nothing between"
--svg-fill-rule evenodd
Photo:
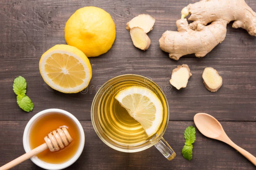
<instances>
[{"instance_id":1,"label":"jagged-edged pale ginger slice, left of the rounder lone slice","mask_svg":"<svg viewBox=\"0 0 256 170\"><path fill-rule=\"evenodd\" d=\"M188 79L192 74L190 73L190 69L187 64L182 64L181 66L177 66L172 70L172 77L170 83L176 89L185 88L188 84Z\"/></svg>"}]
</instances>

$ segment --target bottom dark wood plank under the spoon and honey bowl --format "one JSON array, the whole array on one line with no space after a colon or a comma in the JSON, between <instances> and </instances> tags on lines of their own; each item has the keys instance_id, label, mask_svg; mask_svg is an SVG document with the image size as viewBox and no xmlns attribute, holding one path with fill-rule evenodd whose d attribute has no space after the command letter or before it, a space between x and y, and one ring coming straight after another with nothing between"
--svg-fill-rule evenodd
<instances>
[{"instance_id":1,"label":"bottom dark wood plank under the spoon and honey bowl","mask_svg":"<svg viewBox=\"0 0 256 170\"><path fill-rule=\"evenodd\" d=\"M22 134L27 121L0 121L0 165L24 153ZM230 146L204 137L196 130L193 159L182 157L184 130L192 121L169 121L164 134L177 153L168 161L153 146L142 152L118 152L105 145L96 135L91 121L81 121L85 132L85 147L81 157L67 169L255 169L255 166ZM228 136L248 152L256 155L256 122L221 122ZM30 160L15 169L40 169Z\"/></svg>"}]
</instances>

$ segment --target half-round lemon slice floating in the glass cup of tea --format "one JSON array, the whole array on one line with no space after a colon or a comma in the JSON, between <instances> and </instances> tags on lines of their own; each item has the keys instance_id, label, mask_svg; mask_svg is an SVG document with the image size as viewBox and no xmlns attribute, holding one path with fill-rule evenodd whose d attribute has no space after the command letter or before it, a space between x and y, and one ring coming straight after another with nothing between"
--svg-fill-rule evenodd
<instances>
[{"instance_id":1,"label":"half-round lemon slice floating in the glass cup of tea","mask_svg":"<svg viewBox=\"0 0 256 170\"><path fill-rule=\"evenodd\" d=\"M131 86L120 90L115 99L141 124L149 137L156 133L163 120L163 105L153 91Z\"/></svg>"}]
</instances>

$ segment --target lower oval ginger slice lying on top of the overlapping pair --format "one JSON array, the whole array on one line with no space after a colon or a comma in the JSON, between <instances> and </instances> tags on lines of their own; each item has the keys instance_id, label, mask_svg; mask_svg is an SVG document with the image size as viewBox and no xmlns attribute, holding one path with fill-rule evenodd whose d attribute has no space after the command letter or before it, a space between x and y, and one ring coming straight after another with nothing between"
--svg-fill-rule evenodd
<instances>
[{"instance_id":1,"label":"lower oval ginger slice lying on top of the overlapping pair","mask_svg":"<svg viewBox=\"0 0 256 170\"><path fill-rule=\"evenodd\" d=\"M140 48L141 50L147 50L151 41L148 37L148 35L143 31L142 28L139 27L133 27L130 30L130 35L132 38L132 43L137 48Z\"/></svg>"}]
</instances>

